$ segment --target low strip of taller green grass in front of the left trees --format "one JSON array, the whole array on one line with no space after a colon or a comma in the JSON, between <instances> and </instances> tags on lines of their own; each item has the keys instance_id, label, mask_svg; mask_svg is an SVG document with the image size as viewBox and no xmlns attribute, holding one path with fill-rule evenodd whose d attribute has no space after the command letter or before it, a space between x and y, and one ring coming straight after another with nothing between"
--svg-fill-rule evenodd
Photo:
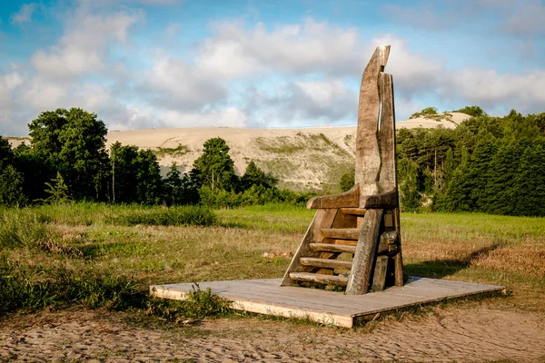
<instances>
[{"instance_id":1,"label":"low strip of taller green grass in front of the left trees","mask_svg":"<svg viewBox=\"0 0 545 363\"><path fill-rule=\"evenodd\" d=\"M212 226L216 223L213 211L200 206L171 207L151 210L125 211L112 219L114 224L134 226Z\"/></svg>"}]
</instances>

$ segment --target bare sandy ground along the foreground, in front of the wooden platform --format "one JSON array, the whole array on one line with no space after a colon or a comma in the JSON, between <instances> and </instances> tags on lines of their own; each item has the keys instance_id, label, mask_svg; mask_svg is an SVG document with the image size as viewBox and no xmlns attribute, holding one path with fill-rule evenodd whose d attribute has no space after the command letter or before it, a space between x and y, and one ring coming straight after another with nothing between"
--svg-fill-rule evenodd
<instances>
[{"instance_id":1,"label":"bare sandy ground along the foreground, in front of the wooden platform","mask_svg":"<svg viewBox=\"0 0 545 363\"><path fill-rule=\"evenodd\" d=\"M219 319L172 331L120 314L74 311L0 322L0 361L545 361L544 317L471 307L435 309L375 329Z\"/></svg>"}]
</instances>

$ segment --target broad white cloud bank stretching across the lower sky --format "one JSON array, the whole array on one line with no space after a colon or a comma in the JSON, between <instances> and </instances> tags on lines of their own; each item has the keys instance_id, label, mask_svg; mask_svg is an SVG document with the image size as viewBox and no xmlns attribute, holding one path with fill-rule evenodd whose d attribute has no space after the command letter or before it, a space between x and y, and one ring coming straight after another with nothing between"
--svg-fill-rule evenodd
<instances>
[{"instance_id":1,"label":"broad white cloud bank stretching across the lower sky","mask_svg":"<svg viewBox=\"0 0 545 363\"><path fill-rule=\"evenodd\" d=\"M490 113L542 112L545 103L542 71L447 68L436 55L415 51L400 34L369 37L312 18L273 28L224 20L182 55L161 49L159 42L135 52L151 54L140 62L127 49L137 44L132 32L144 23L144 13L124 6L102 12L96 2L82 4L65 16L64 34L54 46L0 73L3 131L25 133L38 113L73 106L120 130L355 123L362 71L382 44L391 44L386 72L393 74L398 120L434 105L421 104L429 100L480 104ZM429 26L440 26L430 19ZM167 24L159 34L174 40L182 26ZM538 32L516 29L510 32ZM525 49L533 52L533 44Z\"/></svg>"}]
</instances>

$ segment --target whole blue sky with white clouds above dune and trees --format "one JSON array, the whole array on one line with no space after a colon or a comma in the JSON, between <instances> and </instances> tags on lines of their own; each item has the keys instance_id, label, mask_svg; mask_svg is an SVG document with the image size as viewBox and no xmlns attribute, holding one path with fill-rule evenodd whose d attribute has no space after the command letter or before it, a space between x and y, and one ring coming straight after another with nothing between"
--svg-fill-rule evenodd
<instances>
[{"instance_id":1,"label":"whole blue sky with white clouds above dune and trees","mask_svg":"<svg viewBox=\"0 0 545 363\"><path fill-rule=\"evenodd\" d=\"M545 112L541 0L0 3L0 134L81 107L110 130L356 123L391 44L396 118Z\"/></svg>"}]
</instances>

